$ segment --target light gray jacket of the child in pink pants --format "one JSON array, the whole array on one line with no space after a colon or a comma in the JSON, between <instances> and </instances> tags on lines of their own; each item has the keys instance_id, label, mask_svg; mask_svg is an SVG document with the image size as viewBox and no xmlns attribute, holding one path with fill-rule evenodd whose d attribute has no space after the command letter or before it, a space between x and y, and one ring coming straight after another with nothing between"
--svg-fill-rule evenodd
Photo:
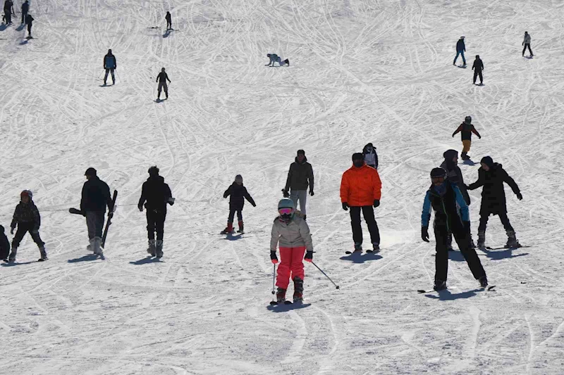
<instances>
[{"instance_id":1,"label":"light gray jacket of the child in pink pants","mask_svg":"<svg viewBox=\"0 0 564 375\"><path fill-rule=\"evenodd\" d=\"M312 235L309 234L307 222L298 214L286 224L276 217L272 224L272 235L270 238L270 250L276 251L276 245L281 248L298 248L305 246L307 251L313 251Z\"/></svg>"}]
</instances>

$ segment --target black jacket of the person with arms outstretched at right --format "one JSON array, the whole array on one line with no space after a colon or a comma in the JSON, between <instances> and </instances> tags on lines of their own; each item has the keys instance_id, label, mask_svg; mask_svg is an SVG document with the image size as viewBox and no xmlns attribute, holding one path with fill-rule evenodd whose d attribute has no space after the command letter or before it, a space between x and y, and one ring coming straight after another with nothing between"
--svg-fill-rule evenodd
<instances>
[{"instance_id":1,"label":"black jacket of the person with arms outstretched at right","mask_svg":"<svg viewBox=\"0 0 564 375\"><path fill-rule=\"evenodd\" d=\"M505 189L503 182L508 184L513 193L520 193L519 186L515 183L509 174L503 170L501 164L494 163L488 172L480 167L478 170L478 180L468 186L468 190L482 189L482 205L480 205L480 215L499 215L507 213L507 205L505 203Z\"/></svg>"}]
</instances>

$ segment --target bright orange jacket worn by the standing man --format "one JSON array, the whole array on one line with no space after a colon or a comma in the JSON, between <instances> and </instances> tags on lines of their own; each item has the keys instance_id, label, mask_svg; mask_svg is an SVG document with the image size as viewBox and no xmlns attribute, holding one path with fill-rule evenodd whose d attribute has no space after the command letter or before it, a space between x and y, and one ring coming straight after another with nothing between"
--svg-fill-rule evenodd
<instances>
[{"instance_id":1,"label":"bright orange jacket worn by the standing man","mask_svg":"<svg viewBox=\"0 0 564 375\"><path fill-rule=\"evenodd\" d=\"M341 203L359 207L372 205L374 200L380 200L382 182L378 171L364 164L357 168L353 165L343 173L341 179Z\"/></svg>"}]
</instances>

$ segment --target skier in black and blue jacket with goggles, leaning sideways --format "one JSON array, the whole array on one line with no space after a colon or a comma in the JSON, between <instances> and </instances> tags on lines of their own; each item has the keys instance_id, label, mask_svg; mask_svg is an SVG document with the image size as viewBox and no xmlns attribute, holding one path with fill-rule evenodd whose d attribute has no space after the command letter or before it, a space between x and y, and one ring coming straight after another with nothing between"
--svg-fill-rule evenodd
<instances>
[{"instance_id":1,"label":"skier in black and blue jacket with goggles, leaning sideways","mask_svg":"<svg viewBox=\"0 0 564 375\"><path fill-rule=\"evenodd\" d=\"M436 240L435 280L433 289L442 291L446 289L446 276L448 273L447 238L452 233L460 253L465 258L474 279L477 279L482 288L488 286L488 279L482 262L476 250L470 246L470 215L468 206L460 193L460 189L446 179L443 168L431 170L431 186L425 194L423 211L421 214L421 238L429 242L429 221L431 210L435 210L433 223Z\"/></svg>"}]
</instances>

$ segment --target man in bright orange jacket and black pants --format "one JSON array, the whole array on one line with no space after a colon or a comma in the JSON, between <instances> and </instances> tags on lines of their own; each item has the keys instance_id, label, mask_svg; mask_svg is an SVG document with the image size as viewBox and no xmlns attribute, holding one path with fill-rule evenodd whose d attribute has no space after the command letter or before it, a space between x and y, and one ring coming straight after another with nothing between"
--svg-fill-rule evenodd
<instances>
[{"instance_id":1,"label":"man in bright orange jacket and black pants","mask_svg":"<svg viewBox=\"0 0 564 375\"><path fill-rule=\"evenodd\" d=\"M364 163L362 153L353 153L353 167L346 170L341 179L341 203L343 210L350 208L350 226L353 228L355 251L362 251L361 210L368 225L374 252L380 250L380 233L372 207L380 205L381 189L382 182L378 171Z\"/></svg>"}]
</instances>

